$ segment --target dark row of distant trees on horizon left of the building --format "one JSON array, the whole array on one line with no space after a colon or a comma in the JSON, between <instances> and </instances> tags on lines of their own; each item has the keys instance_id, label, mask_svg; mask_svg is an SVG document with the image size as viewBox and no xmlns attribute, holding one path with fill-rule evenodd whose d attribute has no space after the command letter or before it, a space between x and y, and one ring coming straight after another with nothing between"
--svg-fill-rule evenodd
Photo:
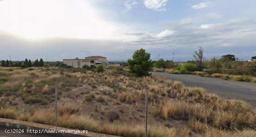
<instances>
[{"instance_id":1,"label":"dark row of distant trees on horizon left of the building","mask_svg":"<svg viewBox=\"0 0 256 137\"><path fill-rule=\"evenodd\" d=\"M8 61L8 60L2 60L1 61L1 66L2 67L21 67L21 68L27 68L27 67L43 67L44 66L44 61L41 58L40 61L36 59L33 63L31 60L25 59L25 61Z\"/></svg>"}]
</instances>

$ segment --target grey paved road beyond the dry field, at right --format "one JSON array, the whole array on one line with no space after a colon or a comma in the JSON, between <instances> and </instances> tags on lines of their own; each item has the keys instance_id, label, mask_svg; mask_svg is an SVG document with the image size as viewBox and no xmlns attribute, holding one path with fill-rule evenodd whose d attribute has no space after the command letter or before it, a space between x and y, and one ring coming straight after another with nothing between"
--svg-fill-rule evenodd
<instances>
[{"instance_id":1,"label":"grey paved road beyond the dry field, at right","mask_svg":"<svg viewBox=\"0 0 256 137\"><path fill-rule=\"evenodd\" d=\"M233 80L226 81L221 78L209 78L185 74L167 74L163 72L156 72L156 75L175 81L182 81L186 86L203 87L208 93L216 93L225 98L256 100L256 83Z\"/></svg>"}]
</instances>

